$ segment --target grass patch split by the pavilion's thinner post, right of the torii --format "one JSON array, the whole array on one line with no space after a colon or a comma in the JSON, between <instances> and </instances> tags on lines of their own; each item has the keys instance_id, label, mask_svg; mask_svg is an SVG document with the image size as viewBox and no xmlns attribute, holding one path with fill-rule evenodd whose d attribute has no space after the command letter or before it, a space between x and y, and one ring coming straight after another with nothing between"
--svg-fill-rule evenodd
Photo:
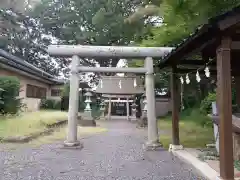
<instances>
[{"instance_id":1,"label":"grass patch split by the pavilion's thinner post, right of the torii","mask_svg":"<svg viewBox=\"0 0 240 180\"><path fill-rule=\"evenodd\" d=\"M160 135L160 141L164 147L172 143L172 121L171 117L161 118L158 121L160 130L169 132ZM198 110L183 112L179 122L180 144L185 148L202 148L206 144L214 142L211 120L200 114Z\"/></svg>"}]
</instances>

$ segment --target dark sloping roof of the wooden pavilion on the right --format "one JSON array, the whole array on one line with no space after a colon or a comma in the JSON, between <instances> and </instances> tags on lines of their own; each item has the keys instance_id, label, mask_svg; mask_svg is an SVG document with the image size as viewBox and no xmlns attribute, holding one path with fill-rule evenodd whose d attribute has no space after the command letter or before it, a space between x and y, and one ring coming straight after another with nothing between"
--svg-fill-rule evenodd
<instances>
[{"instance_id":1,"label":"dark sloping roof of the wooden pavilion on the right","mask_svg":"<svg viewBox=\"0 0 240 180\"><path fill-rule=\"evenodd\" d=\"M232 74L239 74L235 67L240 65L240 6L211 18L206 24L197 28L196 32L179 44L175 50L169 53L160 62L159 68L163 69L174 65L191 66L191 68L177 67L178 73L188 73L199 66L205 66L211 60L209 66L216 65L216 49L221 43L222 36L231 36L231 64ZM210 68L216 73L214 68Z\"/></svg>"}]
</instances>

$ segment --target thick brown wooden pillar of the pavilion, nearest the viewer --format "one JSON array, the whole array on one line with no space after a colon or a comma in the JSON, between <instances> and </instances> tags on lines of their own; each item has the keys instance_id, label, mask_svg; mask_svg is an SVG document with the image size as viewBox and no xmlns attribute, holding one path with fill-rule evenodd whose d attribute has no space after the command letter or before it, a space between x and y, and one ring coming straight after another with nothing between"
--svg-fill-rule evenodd
<instances>
[{"instance_id":1,"label":"thick brown wooden pillar of the pavilion, nearest the viewer","mask_svg":"<svg viewBox=\"0 0 240 180\"><path fill-rule=\"evenodd\" d=\"M220 177L223 180L234 179L233 139L232 139L232 91L231 91L231 42L223 37L217 48L218 108L219 108L219 154Z\"/></svg>"}]
</instances>

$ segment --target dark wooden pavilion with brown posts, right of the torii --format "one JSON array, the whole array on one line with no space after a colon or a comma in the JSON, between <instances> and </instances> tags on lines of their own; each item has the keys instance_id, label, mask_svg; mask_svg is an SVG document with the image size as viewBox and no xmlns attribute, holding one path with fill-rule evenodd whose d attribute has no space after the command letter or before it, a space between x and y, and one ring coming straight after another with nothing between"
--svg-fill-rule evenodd
<instances>
[{"instance_id":1,"label":"dark wooden pavilion with brown posts, right of the torii","mask_svg":"<svg viewBox=\"0 0 240 180\"><path fill-rule=\"evenodd\" d=\"M195 57L195 58L193 58ZM197 58L196 58L197 57ZM201 57L201 58L199 58ZM240 87L240 7L211 18L188 39L169 53L159 68L169 68L171 75L172 129L174 145L179 139L179 75L187 74L206 66L212 75L217 75L217 107L220 125L220 178L234 179L232 139L232 78ZM184 68L186 67L186 68ZM237 94L240 95L239 88ZM238 104L240 104L238 98Z\"/></svg>"}]
</instances>

